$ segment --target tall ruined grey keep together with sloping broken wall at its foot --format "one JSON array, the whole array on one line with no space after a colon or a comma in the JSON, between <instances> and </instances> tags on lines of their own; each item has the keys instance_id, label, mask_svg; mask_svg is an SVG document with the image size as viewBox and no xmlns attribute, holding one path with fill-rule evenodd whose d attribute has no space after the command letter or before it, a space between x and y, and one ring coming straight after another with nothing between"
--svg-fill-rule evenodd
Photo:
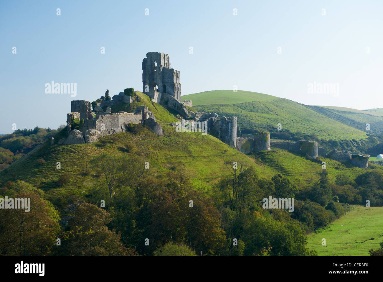
<instances>
[{"instance_id":1,"label":"tall ruined grey keep together with sloping broken wall at its foot","mask_svg":"<svg viewBox=\"0 0 383 282\"><path fill-rule=\"evenodd\" d=\"M188 110L181 103L180 72L170 68L168 54L146 53L146 58L142 60L142 85L142 92L151 97L153 102L188 118Z\"/></svg>"}]
</instances>

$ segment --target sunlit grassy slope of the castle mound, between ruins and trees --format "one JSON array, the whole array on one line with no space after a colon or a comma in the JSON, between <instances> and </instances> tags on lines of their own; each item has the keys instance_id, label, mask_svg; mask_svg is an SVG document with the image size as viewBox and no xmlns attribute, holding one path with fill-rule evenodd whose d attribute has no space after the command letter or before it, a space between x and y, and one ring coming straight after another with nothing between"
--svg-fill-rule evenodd
<instances>
[{"instance_id":1,"label":"sunlit grassy slope of the castle mound, between ruins and trees","mask_svg":"<svg viewBox=\"0 0 383 282\"><path fill-rule=\"evenodd\" d=\"M166 123L177 119L164 107L151 104L145 99L146 97L142 97L138 103L146 104L154 112L158 117L157 121L162 124L165 136L158 136L149 129L143 129L139 133L123 132L101 137L100 141L104 140L103 143L50 145L46 142L26 158L0 172L0 181L2 184L16 179L27 181L47 191L51 200L63 194L76 195L97 185L92 174L87 175L86 168L90 167L93 157L102 153L139 155L149 162L150 173L182 171L191 178L196 188L202 189L208 189L222 176L229 174L224 165L226 160L251 165L260 177L270 178L274 175L273 169L255 163L253 159L211 135L201 135L201 132L176 132L175 127ZM133 144L129 152L126 150L127 144ZM45 162L38 163L40 158ZM61 169L56 168L57 162L61 162ZM69 175L70 182L57 186L56 181L62 175Z\"/></svg>"}]
</instances>

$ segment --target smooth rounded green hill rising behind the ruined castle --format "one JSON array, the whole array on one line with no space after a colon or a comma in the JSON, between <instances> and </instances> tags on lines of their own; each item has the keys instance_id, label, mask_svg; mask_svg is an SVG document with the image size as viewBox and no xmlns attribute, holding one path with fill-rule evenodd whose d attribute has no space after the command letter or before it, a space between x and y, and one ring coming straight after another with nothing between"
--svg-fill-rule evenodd
<instances>
[{"instance_id":1,"label":"smooth rounded green hill rising behind the ruined castle","mask_svg":"<svg viewBox=\"0 0 383 282\"><path fill-rule=\"evenodd\" d=\"M251 93L251 92L250 92ZM201 112L216 112L219 116L237 116L237 124L258 130L282 129L290 132L315 132L319 138L334 140L365 139L366 132L331 119L308 107L284 98L255 93L247 94L232 90L209 91L183 96L193 101L193 107ZM208 97L205 97L208 96ZM208 102L209 104L202 104ZM213 104L214 103L214 104Z\"/></svg>"}]
</instances>

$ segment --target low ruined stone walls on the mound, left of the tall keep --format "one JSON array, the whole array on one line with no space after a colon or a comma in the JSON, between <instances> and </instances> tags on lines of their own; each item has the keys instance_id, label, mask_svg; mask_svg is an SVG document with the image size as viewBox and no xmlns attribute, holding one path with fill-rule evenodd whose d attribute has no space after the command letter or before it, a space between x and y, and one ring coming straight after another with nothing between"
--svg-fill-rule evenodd
<instances>
[{"instance_id":1,"label":"low ruined stone walls on the mound, left of the tall keep","mask_svg":"<svg viewBox=\"0 0 383 282\"><path fill-rule=\"evenodd\" d=\"M139 106L132 113L122 111L112 113L111 106L116 102L123 101L121 93L124 95L124 92L120 92L118 98L111 101L101 99L101 102L95 106L95 112L92 112L92 105L89 101L72 101L71 112L67 114L68 137L60 139L57 143L71 145L97 142L100 136L126 131L128 124L147 125L156 134L163 135L161 125L156 122L154 114L146 106ZM109 91L107 90L105 96L108 97L108 95ZM113 96L113 98L115 97ZM103 107L106 107L105 112ZM74 129L75 119L80 120L79 130Z\"/></svg>"}]
</instances>

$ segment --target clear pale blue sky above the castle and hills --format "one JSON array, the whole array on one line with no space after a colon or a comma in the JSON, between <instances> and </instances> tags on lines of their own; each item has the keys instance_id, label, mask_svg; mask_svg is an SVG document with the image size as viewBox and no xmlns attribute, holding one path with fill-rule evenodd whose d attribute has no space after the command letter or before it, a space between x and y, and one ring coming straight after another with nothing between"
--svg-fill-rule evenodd
<instances>
[{"instance_id":1,"label":"clear pale blue sky above the castle and hills","mask_svg":"<svg viewBox=\"0 0 383 282\"><path fill-rule=\"evenodd\" d=\"M182 95L236 86L306 105L383 107L382 15L383 2L368 0L0 0L0 134L56 129L70 101L106 89L142 91L147 52L169 54ZM51 81L75 83L76 97L46 93Z\"/></svg>"}]
</instances>

